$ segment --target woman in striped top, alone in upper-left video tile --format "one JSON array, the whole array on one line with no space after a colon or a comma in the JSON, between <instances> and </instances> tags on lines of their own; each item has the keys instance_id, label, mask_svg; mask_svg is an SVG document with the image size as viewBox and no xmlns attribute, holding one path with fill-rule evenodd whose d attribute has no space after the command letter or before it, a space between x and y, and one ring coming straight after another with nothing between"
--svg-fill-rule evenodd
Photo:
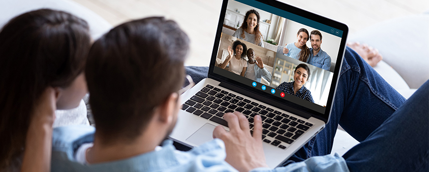
<instances>
[{"instance_id":1,"label":"woman in striped top, alone in upper-left video tile","mask_svg":"<svg viewBox=\"0 0 429 172\"><path fill-rule=\"evenodd\" d=\"M258 11L254 9L248 10L242 26L237 29L232 36L264 47L264 40L262 39L262 34L259 31L260 19L261 17L259 16Z\"/></svg>"}]
</instances>

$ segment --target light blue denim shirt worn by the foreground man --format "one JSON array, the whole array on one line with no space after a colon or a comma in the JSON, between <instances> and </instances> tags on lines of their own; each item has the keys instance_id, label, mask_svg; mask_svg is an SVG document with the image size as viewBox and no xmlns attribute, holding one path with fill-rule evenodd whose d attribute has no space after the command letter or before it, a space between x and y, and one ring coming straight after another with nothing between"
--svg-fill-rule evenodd
<instances>
[{"instance_id":1,"label":"light blue denim shirt worn by the foreground man","mask_svg":"<svg viewBox=\"0 0 429 172\"><path fill-rule=\"evenodd\" d=\"M237 172L224 161L225 145L219 139L183 152L166 140L162 149L134 157L82 165L75 154L83 143L92 143L95 129L92 126L65 126L54 129L52 172ZM332 155L309 158L300 163L276 169L257 168L251 172L348 172L343 158Z\"/></svg>"}]
</instances>

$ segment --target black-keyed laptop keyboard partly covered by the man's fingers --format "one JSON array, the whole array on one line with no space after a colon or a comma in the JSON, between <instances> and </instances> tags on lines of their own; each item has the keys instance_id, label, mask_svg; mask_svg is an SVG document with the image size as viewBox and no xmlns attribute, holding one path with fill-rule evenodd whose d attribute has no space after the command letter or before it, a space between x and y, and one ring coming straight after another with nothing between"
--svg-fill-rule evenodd
<instances>
[{"instance_id":1,"label":"black-keyed laptop keyboard partly covered by the man's fingers","mask_svg":"<svg viewBox=\"0 0 429 172\"><path fill-rule=\"evenodd\" d=\"M241 112L249 120L250 133L253 133L253 117L260 115L262 141L281 149L292 144L313 126L303 119L281 113L211 85L206 85L187 100L182 110L226 127L228 123L222 118L223 115L234 111Z\"/></svg>"}]
</instances>

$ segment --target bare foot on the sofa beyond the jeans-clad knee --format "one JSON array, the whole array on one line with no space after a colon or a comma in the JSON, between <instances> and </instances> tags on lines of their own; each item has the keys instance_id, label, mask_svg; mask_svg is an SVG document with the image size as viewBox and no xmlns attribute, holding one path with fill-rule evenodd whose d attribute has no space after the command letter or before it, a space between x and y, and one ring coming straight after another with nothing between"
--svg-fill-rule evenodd
<instances>
[{"instance_id":1,"label":"bare foot on the sofa beyond the jeans-clad knee","mask_svg":"<svg viewBox=\"0 0 429 172\"><path fill-rule=\"evenodd\" d=\"M383 59L376 48L370 47L367 44L360 44L359 42L347 43L347 46L352 48L356 53L359 54L367 63L374 67L379 61Z\"/></svg>"}]
</instances>

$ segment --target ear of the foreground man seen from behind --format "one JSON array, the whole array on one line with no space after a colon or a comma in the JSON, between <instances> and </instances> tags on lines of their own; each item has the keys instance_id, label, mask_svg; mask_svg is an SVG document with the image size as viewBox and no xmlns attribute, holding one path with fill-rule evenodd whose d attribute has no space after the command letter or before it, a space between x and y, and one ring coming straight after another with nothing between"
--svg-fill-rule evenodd
<instances>
[{"instance_id":1,"label":"ear of the foreground man seen from behind","mask_svg":"<svg viewBox=\"0 0 429 172\"><path fill-rule=\"evenodd\" d=\"M171 93L165 102L159 106L159 120L166 123L173 122L174 116L178 112L178 99L179 94L177 92Z\"/></svg>"}]
</instances>

